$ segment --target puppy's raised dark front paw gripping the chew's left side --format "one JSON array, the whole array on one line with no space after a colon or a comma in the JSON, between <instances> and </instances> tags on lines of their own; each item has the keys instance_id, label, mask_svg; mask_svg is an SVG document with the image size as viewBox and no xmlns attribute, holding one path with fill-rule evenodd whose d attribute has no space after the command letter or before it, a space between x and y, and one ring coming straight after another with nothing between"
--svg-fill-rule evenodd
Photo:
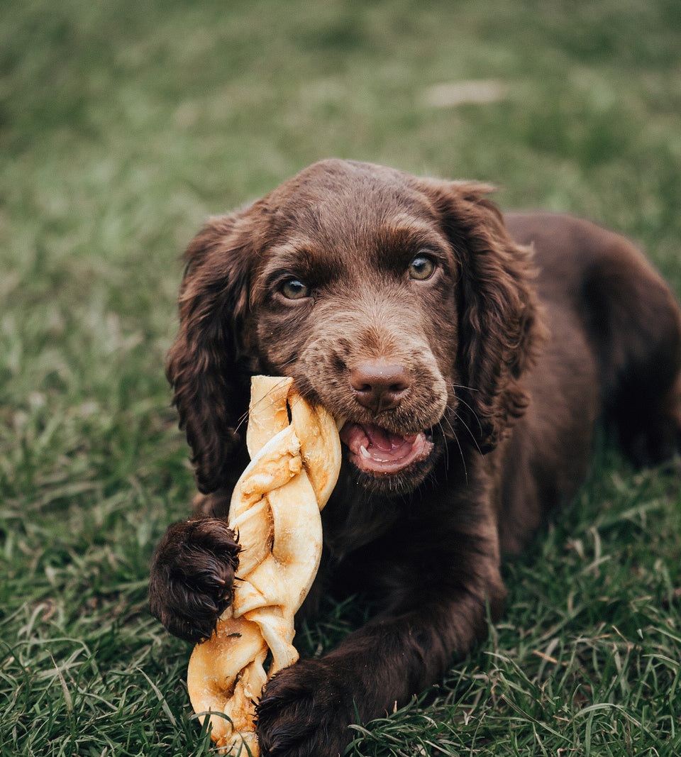
<instances>
[{"instance_id":1,"label":"puppy's raised dark front paw gripping the chew's left side","mask_svg":"<svg viewBox=\"0 0 681 757\"><path fill-rule=\"evenodd\" d=\"M194 643L210 637L232 603L239 550L224 520L170 526L154 554L149 606L171 634Z\"/></svg>"}]
</instances>

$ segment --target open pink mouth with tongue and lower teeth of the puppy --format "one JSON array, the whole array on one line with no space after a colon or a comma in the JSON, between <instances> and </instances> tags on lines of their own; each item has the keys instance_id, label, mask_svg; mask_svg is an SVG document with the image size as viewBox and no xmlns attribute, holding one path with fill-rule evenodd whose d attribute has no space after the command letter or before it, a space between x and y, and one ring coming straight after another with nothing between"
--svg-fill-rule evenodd
<instances>
[{"instance_id":1,"label":"open pink mouth with tongue and lower teeth of the puppy","mask_svg":"<svg viewBox=\"0 0 681 757\"><path fill-rule=\"evenodd\" d=\"M424 459L433 448L422 431L401 436L373 423L346 423L342 441L352 453L353 463L372 473L396 473Z\"/></svg>"}]
</instances>

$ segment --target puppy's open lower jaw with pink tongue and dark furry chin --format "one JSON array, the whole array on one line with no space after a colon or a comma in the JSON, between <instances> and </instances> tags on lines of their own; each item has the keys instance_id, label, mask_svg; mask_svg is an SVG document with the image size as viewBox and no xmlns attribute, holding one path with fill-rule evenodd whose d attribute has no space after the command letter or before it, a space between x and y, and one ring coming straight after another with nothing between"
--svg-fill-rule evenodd
<instances>
[{"instance_id":1,"label":"puppy's open lower jaw with pink tongue and dark furry chin","mask_svg":"<svg viewBox=\"0 0 681 757\"><path fill-rule=\"evenodd\" d=\"M437 459L438 445L426 431L399 435L372 424L346 424L340 439L356 483L385 497L414 491Z\"/></svg>"}]
</instances>

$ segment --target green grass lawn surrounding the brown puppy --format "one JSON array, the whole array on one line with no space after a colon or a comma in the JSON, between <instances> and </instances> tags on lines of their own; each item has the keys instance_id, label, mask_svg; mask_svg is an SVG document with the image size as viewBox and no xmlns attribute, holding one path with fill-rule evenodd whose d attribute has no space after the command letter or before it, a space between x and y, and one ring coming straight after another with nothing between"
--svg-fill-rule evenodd
<instances>
[{"instance_id":1,"label":"green grass lawn surrounding the brown puppy","mask_svg":"<svg viewBox=\"0 0 681 757\"><path fill-rule=\"evenodd\" d=\"M193 491L163 363L209 213L330 155L483 179L681 294L678 0L8 0L0 72L2 757L211 753L146 607ZM496 97L447 101L471 81ZM678 755L679 521L678 464L602 450L490 640L348 755Z\"/></svg>"}]
</instances>

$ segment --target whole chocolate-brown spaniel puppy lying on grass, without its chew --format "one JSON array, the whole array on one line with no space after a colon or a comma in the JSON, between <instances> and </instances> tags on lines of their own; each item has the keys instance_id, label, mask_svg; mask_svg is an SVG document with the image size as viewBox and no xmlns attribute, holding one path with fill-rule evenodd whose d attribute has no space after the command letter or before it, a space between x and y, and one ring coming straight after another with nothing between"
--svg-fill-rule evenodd
<instances>
[{"instance_id":1,"label":"whole chocolate-brown spaniel puppy lying on grass, without its chew","mask_svg":"<svg viewBox=\"0 0 681 757\"><path fill-rule=\"evenodd\" d=\"M154 614L197 641L232 597L255 373L347 419L307 609L329 587L375 603L266 686L263 755L337 755L484 637L500 555L573 496L595 422L638 463L679 449L681 316L658 274L586 221L504 219L489 190L328 160L188 249L168 376L206 496L159 545Z\"/></svg>"}]
</instances>

